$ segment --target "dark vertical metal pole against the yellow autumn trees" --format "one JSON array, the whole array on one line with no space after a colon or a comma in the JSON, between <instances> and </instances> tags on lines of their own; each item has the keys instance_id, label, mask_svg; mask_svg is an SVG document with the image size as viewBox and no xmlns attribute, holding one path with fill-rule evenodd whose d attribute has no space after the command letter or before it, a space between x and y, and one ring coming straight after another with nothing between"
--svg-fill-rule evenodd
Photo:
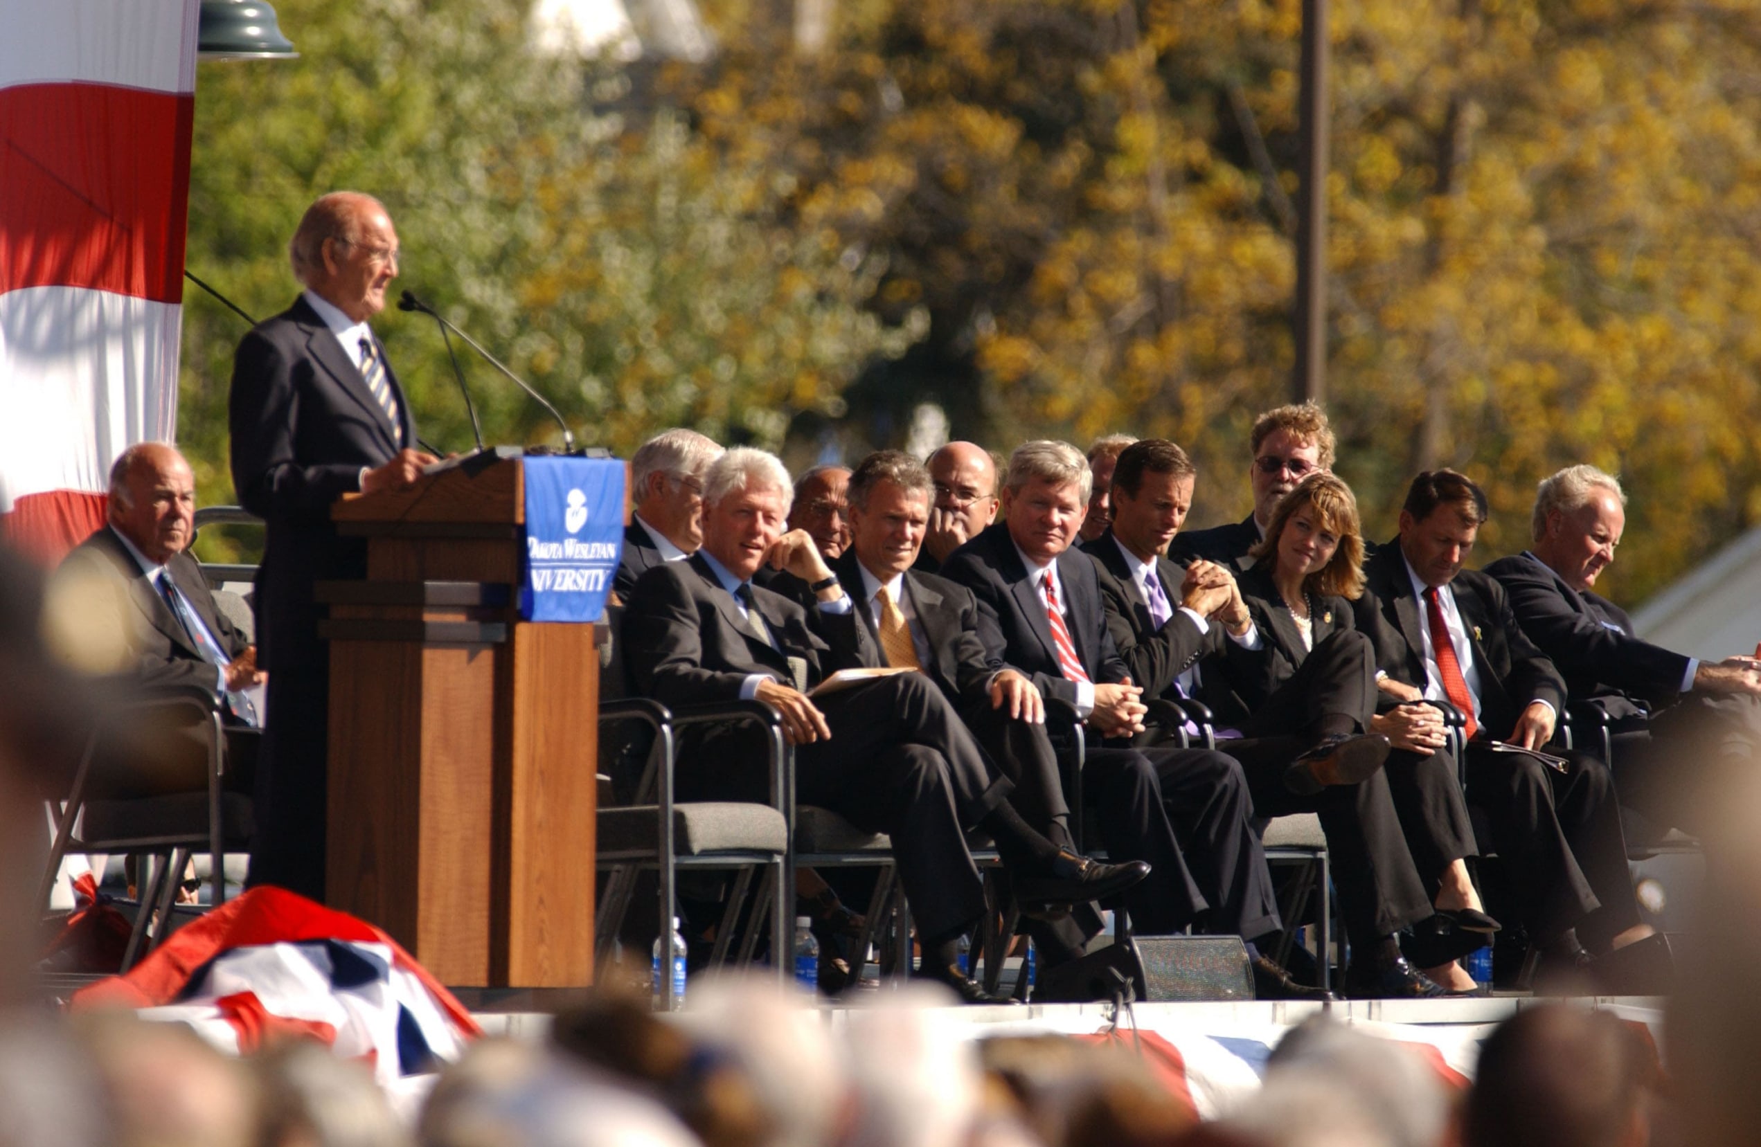
<instances>
[{"instance_id":1,"label":"dark vertical metal pole against the yellow autumn trees","mask_svg":"<svg viewBox=\"0 0 1761 1147\"><path fill-rule=\"evenodd\" d=\"M1296 401L1326 398L1328 0L1303 0L1301 213L1296 220Z\"/></svg>"}]
</instances>

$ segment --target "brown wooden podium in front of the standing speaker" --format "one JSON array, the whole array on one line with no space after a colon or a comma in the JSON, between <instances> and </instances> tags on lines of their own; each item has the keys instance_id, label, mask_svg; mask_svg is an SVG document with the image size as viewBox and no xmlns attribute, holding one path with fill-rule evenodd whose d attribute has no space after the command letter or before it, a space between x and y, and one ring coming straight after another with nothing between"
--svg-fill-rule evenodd
<instances>
[{"instance_id":1,"label":"brown wooden podium in front of the standing speaker","mask_svg":"<svg viewBox=\"0 0 1761 1147\"><path fill-rule=\"evenodd\" d=\"M593 978L599 651L519 619L518 459L338 503L366 581L326 582L331 908L442 983Z\"/></svg>"}]
</instances>

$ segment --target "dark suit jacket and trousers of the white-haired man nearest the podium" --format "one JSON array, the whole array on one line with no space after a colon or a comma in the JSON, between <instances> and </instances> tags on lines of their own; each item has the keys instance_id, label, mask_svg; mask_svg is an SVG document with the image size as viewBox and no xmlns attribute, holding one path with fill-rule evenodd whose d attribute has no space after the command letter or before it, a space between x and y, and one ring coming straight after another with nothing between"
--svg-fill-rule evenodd
<instances>
[{"instance_id":1,"label":"dark suit jacket and trousers of the white-haired man nearest the podium","mask_svg":"<svg viewBox=\"0 0 1761 1147\"><path fill-rule=\"evenodd\" d=\"M752 588L771 642L759 639L701 554L648 570L630 595L623 632L636 690L664 705L726 702L745 679L792 681L789 658L807 665L807 684L838 668L877 665L879 651L861 617L814 610ZM963 827L983 820L1009 793L946 697L923 674L898 674L817 698L829 741L796 748L796 792L893 837L905 897L925 936L940 938L977 920L983 881ZM680 753L680 795L763 799L759 746L729 730Z\"/></svg>"}]
</instances>

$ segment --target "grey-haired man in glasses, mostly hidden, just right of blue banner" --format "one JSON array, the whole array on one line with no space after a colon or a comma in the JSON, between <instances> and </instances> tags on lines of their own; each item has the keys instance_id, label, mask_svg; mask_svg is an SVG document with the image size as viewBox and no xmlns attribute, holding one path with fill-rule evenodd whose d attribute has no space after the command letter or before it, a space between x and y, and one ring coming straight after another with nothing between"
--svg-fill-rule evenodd
<instances>
[{"instance_id":1,"label":"grey-haired man in glasses, mostly hidden, just right of blue banner","mask_svg":"<svg viewBox=\"0 0 1761 1147\"><path fill-rule=\"evenodd\" d=\"M611 581L629 600L636 579L662 561L690 558L703 545L703 475L722 454L697 431L660 431L630 457L634 510L623 528L623 556Z\"/></svg>"}]
</instances>

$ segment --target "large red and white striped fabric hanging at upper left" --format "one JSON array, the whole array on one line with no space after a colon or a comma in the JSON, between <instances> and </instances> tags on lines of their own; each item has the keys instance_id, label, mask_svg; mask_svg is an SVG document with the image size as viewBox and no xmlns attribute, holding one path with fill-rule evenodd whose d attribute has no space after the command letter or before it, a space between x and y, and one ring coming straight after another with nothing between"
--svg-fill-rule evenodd
<instances>
[{"instance_id":1,"label":"large red and white striped fabric hanging at upper left","mask_svg":"<svg viewBox=\"0 0 1761 1147\"><path fill-rule=\"evenodd\" d=\"M0 0L0 528L55 561L178 417L201 0Z\"/></svg>"}]
</instances>

